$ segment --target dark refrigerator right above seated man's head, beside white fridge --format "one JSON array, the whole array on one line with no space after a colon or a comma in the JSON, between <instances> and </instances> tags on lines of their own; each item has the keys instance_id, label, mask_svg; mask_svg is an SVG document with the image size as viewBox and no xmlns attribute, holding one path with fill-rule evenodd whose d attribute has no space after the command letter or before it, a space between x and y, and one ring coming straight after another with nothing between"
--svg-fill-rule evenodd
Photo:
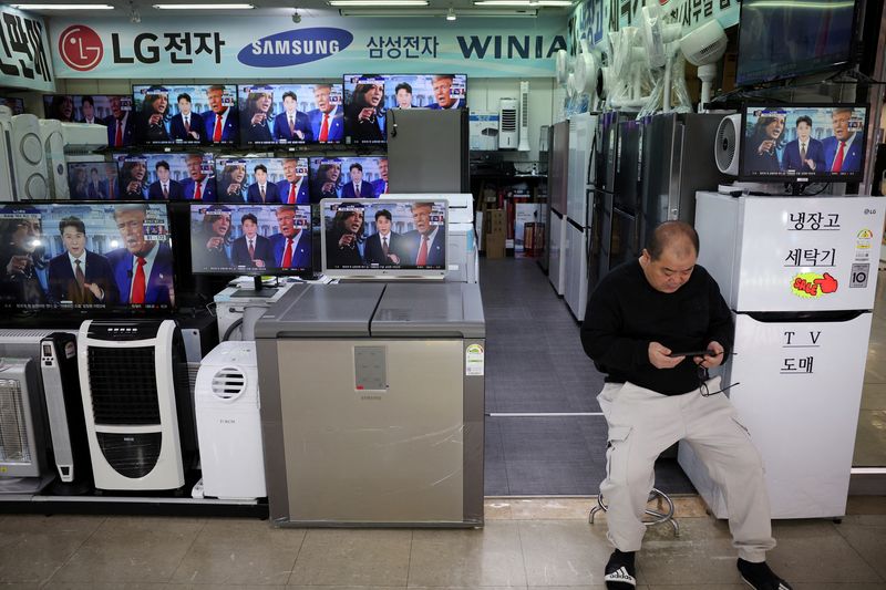
<instances>
[{"instance_id":1,"label":"dark refrigerator right above seated man's head, beside white fridge","mask_svg":"<svg viewBox=\"0 0 886 590\"><path fill-rule=\"evenodd\" d=\"M696 192L732 180L714 161L717 127L724 115L661 113L642 134L640 248L662 221L696 218Z\"/></svg>"}]
</instances>

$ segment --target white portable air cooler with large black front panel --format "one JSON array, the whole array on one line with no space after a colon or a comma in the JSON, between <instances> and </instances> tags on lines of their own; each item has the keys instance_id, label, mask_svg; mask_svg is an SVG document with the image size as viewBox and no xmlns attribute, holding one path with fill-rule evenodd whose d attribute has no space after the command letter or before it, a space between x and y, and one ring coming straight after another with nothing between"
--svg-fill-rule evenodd
<instances>
[{"instance_id":1,"label":"white portable air cooler with large black front panel","mask_svg":"<svg viewBox=\"0 0 886 590\"><path fill-rule=\"evenodd\" d=\"M182 487L193 407L175 322L87 320L78 358L95 487Z\"/></svg>"}]
</instances>

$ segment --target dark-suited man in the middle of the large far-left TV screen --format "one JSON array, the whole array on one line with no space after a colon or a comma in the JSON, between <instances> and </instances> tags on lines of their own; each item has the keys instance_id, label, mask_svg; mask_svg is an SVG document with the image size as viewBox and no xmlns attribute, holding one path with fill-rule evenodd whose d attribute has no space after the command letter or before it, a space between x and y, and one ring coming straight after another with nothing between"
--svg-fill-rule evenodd
<instances>
[{"instance_id":1,"label":"dark-suited man in the middle of the large far-left TV screen","mask_svg":"<svg viewBox=\"0 0 886 590\"><path fill-rule=\"evenodd\" d=\"M59 222L64 252L49 261L49 294L55 303L113 306L120 299L111 263L86 250L86 226L79 217Z\"/></svg>"}]
</instances>

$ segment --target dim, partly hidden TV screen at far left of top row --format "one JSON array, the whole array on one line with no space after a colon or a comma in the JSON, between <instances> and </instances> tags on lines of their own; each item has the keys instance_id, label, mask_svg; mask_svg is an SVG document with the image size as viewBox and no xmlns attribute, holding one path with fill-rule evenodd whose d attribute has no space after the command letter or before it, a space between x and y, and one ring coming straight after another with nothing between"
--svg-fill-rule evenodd
<instances>
[{"instance_id":1,"label":"dim, partly hidden TV screen at far left of top row","mask_svg":"<svg viewBox=\"0 0 886 590\"><path fill-rule=\"evenodd\" d=\"M125 147L135 143L132 96L121 94L44 94L47 118L68 123L95 123L107 127L107 145Z\"/></svg>"}]
</instances>

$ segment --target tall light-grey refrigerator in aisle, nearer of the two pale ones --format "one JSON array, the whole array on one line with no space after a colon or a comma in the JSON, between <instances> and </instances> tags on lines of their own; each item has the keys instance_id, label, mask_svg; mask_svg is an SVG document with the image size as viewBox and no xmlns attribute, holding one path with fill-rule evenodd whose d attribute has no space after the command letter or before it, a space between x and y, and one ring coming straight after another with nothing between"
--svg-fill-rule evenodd
<instances>
[{"instance_id":1,"label":"tall light-grey refrigerator in aisle, nearer of the two pale ones","mask_svg":"<svg viewBox=\"0 0 886 590\"><path fill-rule=\"evenodd\" d=\"M588 176L593 175L597 114L583 113L569 120L568 195L566 198L566 290L564 299L578 321L585 318L588 297L588 240L591 209Z\"/></svg>"}]
</instances>

